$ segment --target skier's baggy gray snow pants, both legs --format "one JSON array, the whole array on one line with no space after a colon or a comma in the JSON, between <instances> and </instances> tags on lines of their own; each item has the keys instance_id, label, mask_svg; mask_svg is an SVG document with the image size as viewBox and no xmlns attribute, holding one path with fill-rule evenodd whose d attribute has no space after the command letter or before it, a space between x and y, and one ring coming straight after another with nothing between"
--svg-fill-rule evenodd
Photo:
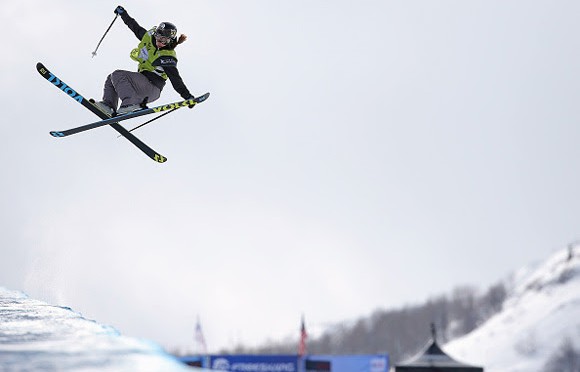
<instances>
[{"instance_id":1,"label":"skier's baggy gray snow pants, both legs","mask_svg":"<svg viewBox=\"0 0 580 372\"><path fill-rule=\"evenodd\" d=\"M147 97L147 102L159 98L161 90L153 85L147 77L139 72L116 70L105 80L103 101L117 109L119 98L121 106L140 104Z\"/></svg>"}]
</instances>

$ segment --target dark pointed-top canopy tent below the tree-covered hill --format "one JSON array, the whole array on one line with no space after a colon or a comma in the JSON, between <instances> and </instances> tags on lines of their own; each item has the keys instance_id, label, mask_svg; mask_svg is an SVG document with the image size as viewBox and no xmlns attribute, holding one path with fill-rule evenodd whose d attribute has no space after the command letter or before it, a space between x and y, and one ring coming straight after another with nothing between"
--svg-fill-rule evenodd
<instances>
[{"instance_id":1,"label":"dark pointed-top canopy tent below the tree-covered hill","mask_svg":"<svg viewBox=\"0 0 580 372\"><path fill-rule=\"evenodd\" d=\"M435 327L431 326L433 339L411 359L397 364L396 372L483 372L482 367L464 364L445 354L437 344Z\"/></svg>"}]
</instances>

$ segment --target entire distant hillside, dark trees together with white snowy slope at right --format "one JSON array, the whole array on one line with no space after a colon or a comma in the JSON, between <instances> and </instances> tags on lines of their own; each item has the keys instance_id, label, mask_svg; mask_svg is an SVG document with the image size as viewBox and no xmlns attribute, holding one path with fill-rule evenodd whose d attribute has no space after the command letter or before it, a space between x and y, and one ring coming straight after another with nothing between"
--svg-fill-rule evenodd
<instances>
[{"instance_id":1,"label":"entire distant hillside, dark trees together with white snowy slope at right","mask_svg":"<svg viewBox=\"0 0 580 372\"><path fill-rule=\"evenodd\" d=\"M483 293L468 286L422 304L377 310L312 336L319 354L387 352L396 364L415 355L436 324L443 349L488 372L543 371L550 359L580 347L580 246L571 245L544 262L527 266ZM292 353L296 337L234 353ZM553 364L553 363L552 363ZM553 368L563 372L564 369ZM573 372L579 372L572 369Z\"/></svg>"}]
</instances>

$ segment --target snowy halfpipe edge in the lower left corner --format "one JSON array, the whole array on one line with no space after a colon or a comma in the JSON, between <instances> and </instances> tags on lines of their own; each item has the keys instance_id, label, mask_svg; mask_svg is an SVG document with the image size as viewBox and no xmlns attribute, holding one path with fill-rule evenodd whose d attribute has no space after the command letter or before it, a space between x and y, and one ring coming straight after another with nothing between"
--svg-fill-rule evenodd
<instances>
[{"instance_id":1,"label":"snowy halfpipe edge in the lower left corner","mask_svg":"<svg viewBox=\"0 0 580 372\"><path fill-rule=\"evenodd\" d=\"M1 371L196 371L156 344L0 287ZM199 370L201 371L201 370Z\"/></svg>"}]
</instances>

